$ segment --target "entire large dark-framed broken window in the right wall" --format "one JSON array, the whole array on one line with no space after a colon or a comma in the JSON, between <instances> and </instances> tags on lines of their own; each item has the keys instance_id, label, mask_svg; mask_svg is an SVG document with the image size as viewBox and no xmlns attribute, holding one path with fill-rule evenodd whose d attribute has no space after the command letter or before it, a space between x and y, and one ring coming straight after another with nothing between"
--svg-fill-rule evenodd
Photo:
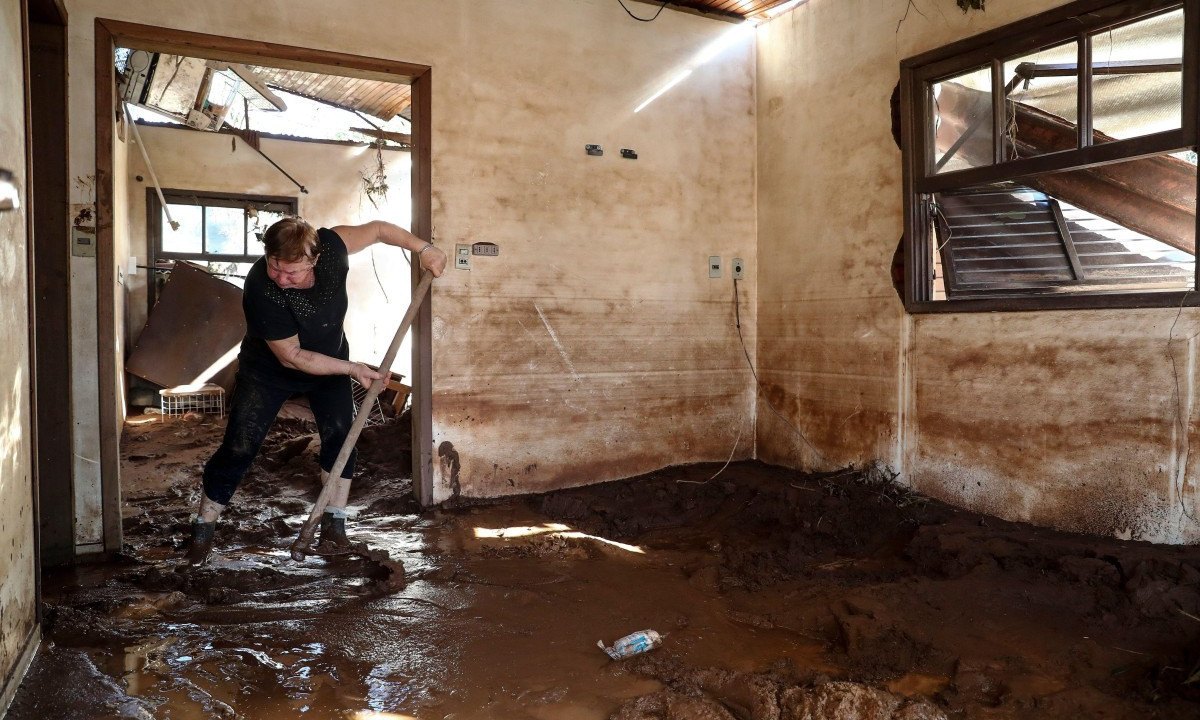
<instances>
[{"instance_id":1,"label":"entire large dark-framed broken window in the right wall","mask_svg":"<svg viewBox=\"0 0 1200 720\"><path fill-rule=\"evenodd\" d=\"M911 312L1200 305L1200 0L1082 0L901 64Z\"/></svg>"}]
</instances>

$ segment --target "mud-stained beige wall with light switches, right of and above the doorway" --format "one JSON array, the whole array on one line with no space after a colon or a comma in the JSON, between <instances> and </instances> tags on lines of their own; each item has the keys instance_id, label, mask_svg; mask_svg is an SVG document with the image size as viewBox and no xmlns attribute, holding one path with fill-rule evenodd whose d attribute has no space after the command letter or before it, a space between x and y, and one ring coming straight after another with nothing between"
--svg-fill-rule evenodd
<instances>
[{"instance_id":1,"label":"mud-stained beige wall with light switches, right of and above the doorway","mask_svg":"<svg viewBox=\"0 0 1200 720\"><path fill-rule=\"evenodd\" d=\"M706 263L745 259L752 343L749 34L695 66L736 26L677 12L637 23L610 0L67 6L79 116L92 112L96 16L433 67L436 240L500 246L434 288L437 499L752 452L732 284L727 271L710 281ZM72 133L73 172L90 173L90 125ZM605 156L584 155L587 143Z\"/></svg>"}]
</instances>

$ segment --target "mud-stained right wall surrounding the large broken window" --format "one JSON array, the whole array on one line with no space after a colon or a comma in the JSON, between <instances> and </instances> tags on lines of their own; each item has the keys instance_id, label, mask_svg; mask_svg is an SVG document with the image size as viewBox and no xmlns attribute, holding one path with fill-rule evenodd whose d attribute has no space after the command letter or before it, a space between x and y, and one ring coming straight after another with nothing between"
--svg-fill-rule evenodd
<instances>
[{"instance_id":1,"label":"mud-stained right wall surrounding the large broken window","mask_svg":"<svg viewBox=\"0 0 1200 720\"><path fill-rule=\"evenodd\" d=\"M799 431L764 404L760 456L881 460L1007 518L1196 540L1196 313L906 317L890 286L900 60L1055 5L917 0L901 22L904 2L810 0L760 29L760 376Z\"/></svg>"}]
</instances>

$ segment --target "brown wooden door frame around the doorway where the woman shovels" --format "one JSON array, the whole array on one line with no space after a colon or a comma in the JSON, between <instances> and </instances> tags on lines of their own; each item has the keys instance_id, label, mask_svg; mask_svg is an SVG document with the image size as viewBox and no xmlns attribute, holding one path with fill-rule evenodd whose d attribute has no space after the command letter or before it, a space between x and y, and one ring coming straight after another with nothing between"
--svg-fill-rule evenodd
<instances>
[{"instance_id":1,"label":"brown wooden door frame around the doorway where the woman shovels","mask_svg":"<svg viewBox=\"0 0 1200 720\"><path fill-rule=\"evenodd\" d=\"M276 44L256 40L191 32L96 18L96 323L100 354L100 468L103 496L104 550L121 547L120 511L120 403L116 396L116 262L113 256L113 122L118 109L113 53L118 47L269 65L326 74L360 77L412 85L413 98L413 234L432 236L432 70L382 58L349 55ZM416 287L420 266L413 265ZM421 305L413 325L413 488L422 505L433 499L433 388L432 388L432 305Z\"/></svg>"}]
</instances>

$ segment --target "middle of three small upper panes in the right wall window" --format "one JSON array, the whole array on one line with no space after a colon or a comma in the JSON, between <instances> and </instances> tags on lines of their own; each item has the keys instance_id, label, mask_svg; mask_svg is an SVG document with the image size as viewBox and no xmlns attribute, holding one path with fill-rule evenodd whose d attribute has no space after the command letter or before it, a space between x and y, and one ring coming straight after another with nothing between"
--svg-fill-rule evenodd
<instances>
[{"instance_id":1,"label":"middle of three small upper panes in the right wall window","mask_svg":"<svg viewBox=\"0 0 1200 720\"><path fill-rule=\"evenodd\" d=\"M1004 62L1004 160L1079 145L1079 43Z\"/></svg>"}]
</instances>

